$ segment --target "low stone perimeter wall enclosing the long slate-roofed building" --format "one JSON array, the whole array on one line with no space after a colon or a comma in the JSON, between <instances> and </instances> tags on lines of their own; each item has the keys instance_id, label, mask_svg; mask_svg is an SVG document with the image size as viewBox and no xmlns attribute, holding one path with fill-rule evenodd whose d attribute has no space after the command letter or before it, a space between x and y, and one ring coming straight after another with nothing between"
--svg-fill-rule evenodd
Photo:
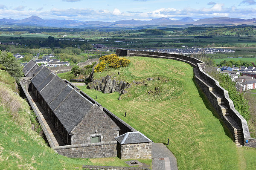
<instances>
[{"instance_id":1,"label":"low stone perimeter wall enclosing the long slate-roofed building","mask_svg":"<svg viewBox=\"0 0 256 170\"><path fill-rule=\"evenodd\" d=\"M64 80L64 81L72 85L69 81L67 80ZM56 153L59 153L67 157L72 157L72 158L104 158L104 157L117 156L117 141L108 141L108 142L100 142L100 143L92 143L92 144L73 144L73 145L56 146L52 138L53 134L51 134L49 130L47 130L48 125L45 125L44 121L42 121L39 115L39 110L37 106L35 106L35 101L33 101L33 99L29 95L28 91L29 89L31 89L30 86L31 86L31 81L29 81L29 78L26 78L26 79L24 78L22 81L20 81L20 95L23 96L23 98L26 98L28 100L30 107L33 109L33 111L35 112L35 115L37 116L38 122L41 124L42 130L44 131L44 135L47 138L49 146L53 150L55 150ZM78 88L76 87L76 89ZM79 89L78 91L80 92L81 95L83 95L93 104L98 105L117 124L117 126L120 128L119 135L122 135L127 132L137 131L133 127L131 127L129 124L127 124L126 122L118 118L116 115L114 115L112 112L110 112L108 109L102 107L102 105L99 104L97 101L95 101L93 98L91 98L84 92L80 91Z\"/></svg>"}]
</instances>

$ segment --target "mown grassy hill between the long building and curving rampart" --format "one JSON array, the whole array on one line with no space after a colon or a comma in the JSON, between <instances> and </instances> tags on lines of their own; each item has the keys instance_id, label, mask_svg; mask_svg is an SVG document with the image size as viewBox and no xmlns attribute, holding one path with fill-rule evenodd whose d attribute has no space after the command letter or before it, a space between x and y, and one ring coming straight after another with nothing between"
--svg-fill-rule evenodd
<instances>
[{"instance_id":1,"label":"mown grassy hill between the long building and curving rampart","mask_svg":"<svg viewBox=\"0 0 256 170\"><path fill-rule=\"evenodd\" d=\"M227 127L194 84L191 66L166 59L129 59L129 67L107 69L96 73L95 78L112 75L130 83L145 81L148 86L133 85L122 100L118 100L117 92L103 94L85 86L79 88L92 97L97 95L99 103L154 142L166 143L170 138L168 148L175 154L179 169L238 169L239 160L247 169L256 168L256 149L242 147L238 153ZM161 80L146 81L149 77ZM160 88L160 95L148 95L149 90L154 94L155 87Z\"/></svg>"}]
</instances>

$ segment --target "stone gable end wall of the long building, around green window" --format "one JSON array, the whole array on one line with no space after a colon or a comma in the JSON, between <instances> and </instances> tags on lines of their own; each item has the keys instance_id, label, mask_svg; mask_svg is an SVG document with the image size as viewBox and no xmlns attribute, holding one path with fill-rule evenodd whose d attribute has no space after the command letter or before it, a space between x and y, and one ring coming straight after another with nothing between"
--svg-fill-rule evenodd
<instances>
[{"instance_id":1,"label":"stone gable end wall of the long building, around green window","mask_svg":"<svg viewBox=\"0 0 256 170\"><path fill-rule=\"evenodd\" d=\"M91 136L100 136L100 142L115 141L119 127L95 104L71 133L71 144L90 143Z\"/></svg>"}]
</instances>

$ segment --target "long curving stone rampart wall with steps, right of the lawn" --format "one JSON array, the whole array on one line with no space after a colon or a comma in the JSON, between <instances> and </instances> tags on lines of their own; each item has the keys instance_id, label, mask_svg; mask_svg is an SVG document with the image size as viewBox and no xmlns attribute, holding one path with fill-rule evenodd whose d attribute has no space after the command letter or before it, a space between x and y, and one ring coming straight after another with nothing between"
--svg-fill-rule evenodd
<instances>
[{"instance_id":1,"label":"long curving stone rampart wall with steps, right of the lawn","mask_svg":"<svg viewBox=\"0 0 256 170\"><path fill-rule=\"evenodd\" d=\"M194 67L195 81L201 87L221 119L233 134L237 145L256 147L256 139L250 138L247 121L235 109L233 101L229 98L227 90L219 82L203 71L205 63L186 55L176 55L160 52L133 51L117 49L118 56L141 56L150 58L164 58L189 63Z\"/></svg>"}]
</instances>

